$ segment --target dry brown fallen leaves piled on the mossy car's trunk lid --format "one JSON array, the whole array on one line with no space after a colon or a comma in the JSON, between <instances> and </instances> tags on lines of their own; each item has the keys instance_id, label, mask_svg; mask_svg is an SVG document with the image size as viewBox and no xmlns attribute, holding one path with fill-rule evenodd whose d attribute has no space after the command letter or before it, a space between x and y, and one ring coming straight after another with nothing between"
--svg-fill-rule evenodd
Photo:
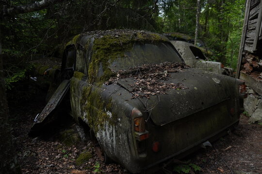
<instances>
[{"instance_id":1,"label":"dry brown fallen leaves piled on the mossy car's trunk lid","mask_svg":"<svg viewBox=\"0 0 262 174\"><path fill-rule=\"evenodd\" d=\"M189 68L184 63L164 62L161 64L145 64L143 66L133 67L128 70L119 70L114 72L115 77L111 77L106 85L117 82L119 79L133 78L132 87L134 97L147 97L150 95L166 94L167 89L186 89L182 83L165 83L170 78L170 73L179 73L183 69Z\"/></svg>"}]
</instances>

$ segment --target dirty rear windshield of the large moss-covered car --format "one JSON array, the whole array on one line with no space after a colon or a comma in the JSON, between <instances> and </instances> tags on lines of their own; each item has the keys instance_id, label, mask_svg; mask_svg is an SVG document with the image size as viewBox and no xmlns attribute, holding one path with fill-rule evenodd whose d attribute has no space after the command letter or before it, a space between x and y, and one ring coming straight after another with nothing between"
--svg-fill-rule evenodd
<instances>
[{"instance_id":1,"label":"dirty rear windshield of the large moss-covered car","mask_svg":"<svg viewBox=\"0 0 262 174\"><path fill-rule=\"evenodd\" d=\"M159 64L161 62L182 62L175 48L168 43L141 44L136 43L124 57L117 58L110 66L112 70L126 70L130 67L144 64Z\"/></svg>"}]
</instances>

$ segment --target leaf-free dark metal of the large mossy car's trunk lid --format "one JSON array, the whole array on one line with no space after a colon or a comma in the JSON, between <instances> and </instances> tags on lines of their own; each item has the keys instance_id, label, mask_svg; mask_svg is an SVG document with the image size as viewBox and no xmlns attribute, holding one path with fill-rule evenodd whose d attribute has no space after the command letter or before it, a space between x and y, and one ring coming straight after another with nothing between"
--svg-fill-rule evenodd
<instances>
[{"instance_id":1,"label":"leaf-free dark metal of the large mossy car's trunk lid","mask_svg":"<svg viewBox=\"0 0 262 174\"><path fill-rule=\"evenodd\" d=\"M185 116L192 115L210 106L235 96L234 78L185 69L180 73L170 73L165 83L182 83L187 89L169 89L166 94L139 98L156 125L164 125ZM132 92L133 78L117 81L119 85Z\"/></svg>"}]
</instances>

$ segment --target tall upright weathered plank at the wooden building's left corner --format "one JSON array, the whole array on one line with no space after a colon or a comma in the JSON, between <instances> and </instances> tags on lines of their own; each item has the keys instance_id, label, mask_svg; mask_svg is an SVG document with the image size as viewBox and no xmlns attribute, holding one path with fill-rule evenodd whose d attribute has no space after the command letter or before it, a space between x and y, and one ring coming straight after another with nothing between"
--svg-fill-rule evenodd
<instances>
[{"instance_id":1,"label":"tall upright weathered plank at the wooden building's left corner","mask_svg":"<svg viewBox=\"0 0 262 174\"><path fill-rule=\"evenodd\" d=\"M242 53L243 53L244 46L245 46L246 30L247 30L247 24L248 24L248 19L249 19L250 2L251 2L250 0L246 0L246 12L245 12L244 26L243 26L242 36L241 36L240 49L238 53L236 78L239 78L240 76L240 66L242 62Z\"/></svg>"}]
</instances>

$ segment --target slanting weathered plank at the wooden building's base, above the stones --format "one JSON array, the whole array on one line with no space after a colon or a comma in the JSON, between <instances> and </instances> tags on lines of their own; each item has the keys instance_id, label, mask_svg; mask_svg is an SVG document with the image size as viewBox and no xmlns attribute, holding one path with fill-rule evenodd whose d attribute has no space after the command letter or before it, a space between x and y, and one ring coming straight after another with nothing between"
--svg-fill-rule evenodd
<instances>
[{"instance_id":1,"label":"slanting weathered plank at the wooden building's base, above the stones","mask_svg":"<svg viewBox=\"0 0 262 174\"><path fill-rule=\"evenodd\" d=\"M262 95L262 82L255 80L250 75L242 72L240 73L240 79L245 81L246 86L251 87L258 94Z\"/></svg>"}]
</instances>

